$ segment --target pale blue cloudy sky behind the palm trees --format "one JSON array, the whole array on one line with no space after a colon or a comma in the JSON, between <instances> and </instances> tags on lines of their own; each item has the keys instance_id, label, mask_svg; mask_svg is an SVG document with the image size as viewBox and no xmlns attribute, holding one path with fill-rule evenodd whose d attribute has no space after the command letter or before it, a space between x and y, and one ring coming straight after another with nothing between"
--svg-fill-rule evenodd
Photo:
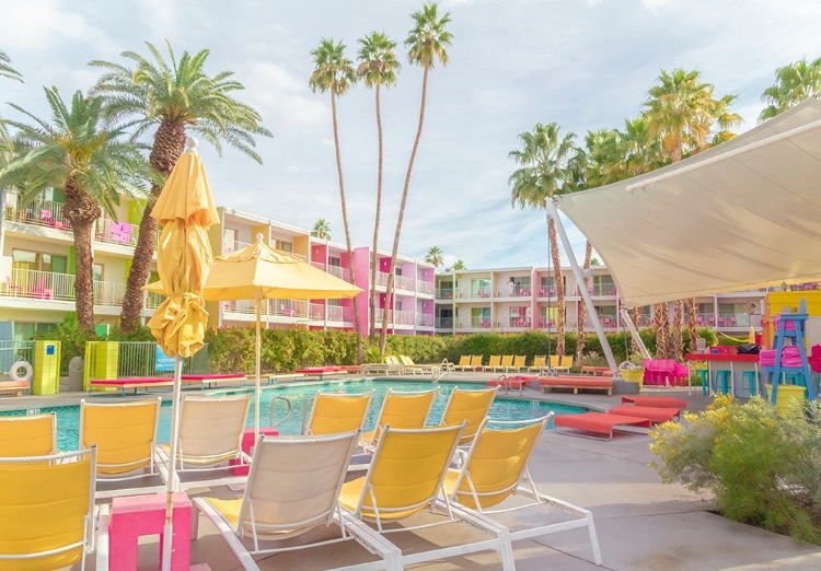
<instances>
[{"instance_id":1,"label":"pale blue cloudy sky behind the palm trees","mask_svg":"<svg viewBox=\"0 0 821 571\"><path fill-rule=\"evenodd\" d=\"M311 50L378 31L398 43L397 85L382 91L383 208L379 247L390 252L419 119L421 69L404 40L420 0L0 0L0 49L25 83L0 82L0 116L13 102L48 118L44 86L66 100L88 91L102 59L128 63L209 49L208 74L234 72L273 138L257 140L259 165L226 147L200 142L217 205L311 230L331 224L345 243L334 158L329 94L308 85ZM579 142L588 130L623 128L636 117L661 69L701 72L715 94L738 96L731 110L754 127L775 70L821 57L818 0L443 0L453 43L436 66L402 225L400 254L432 247L470 269L547 266L544 211L511 207L508 153L536 123L557 123ZM355 86L337 102L348 221L355 247L372 242L377 194L374 94ZM577 256L585 238L568 234ZM564 258L566 259L566 257Z\"/></svg>"}]
</instances>

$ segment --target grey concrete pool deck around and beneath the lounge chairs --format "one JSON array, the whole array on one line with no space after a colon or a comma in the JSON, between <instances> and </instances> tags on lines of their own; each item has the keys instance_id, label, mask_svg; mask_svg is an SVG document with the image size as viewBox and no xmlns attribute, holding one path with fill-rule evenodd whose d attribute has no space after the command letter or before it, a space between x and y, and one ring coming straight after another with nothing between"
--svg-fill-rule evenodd
<instances>
[{"instance_id":1,"label":"grey concrete pool deck around and beneath the lounge chairs","mask_svg":"<svg viewBox=\"0 0 821 571\"><path fill-rule=\"evenodd\" d=\"M451 382L466 383L498 376L490 374L454 374ZM409 380L429 377L407 376ZM518 392L516 392L518 393ZM153 394L153 393L152 393ZM708 403L701 391L644 388L641 394L663 394L687 400L691 410ZM512 396L512 393L511 393ZM42 408L77 404L85 393L42 397L0 398L0 410ZM115 400L119 397L111 397ZM130 397L134 398L134 397ZM138 396L139 398L139 396ZM603 394L542 394L527 388L522 398L578 404L608 409L620 403L620 396ZM821 569L821 547L795 541L752 526L730 522L710 512L713 505L678 485L663 485L648 466L649 438L641 433L617 433L602 442L545 432L531 459L531 474L537 487L551 496L592 511L601 545L600 569L620 571L707 571L707 570L814 570ZM190 490L190 496L223 496L224 488ZM239 492L233 492L239 493ZM459 537L461 529L425 535L426 541L447 543ZM140 547L140 570L155 569L157 539ZM536 571L593 570L589 540L583 531L558 533L536 540L513 544L517 569ZM262 569L327 569L367 560L357 544L303 550L261 559ZM216 529L200 520L199 538L192 544L192 564L207 563L213 571L241 569ZM93 569L93 566L90 567ZM419 566L426 570L501 569L493 552L452 558ZM79 566L74 566L79 569Z\"/></svg>"}]
</instances>

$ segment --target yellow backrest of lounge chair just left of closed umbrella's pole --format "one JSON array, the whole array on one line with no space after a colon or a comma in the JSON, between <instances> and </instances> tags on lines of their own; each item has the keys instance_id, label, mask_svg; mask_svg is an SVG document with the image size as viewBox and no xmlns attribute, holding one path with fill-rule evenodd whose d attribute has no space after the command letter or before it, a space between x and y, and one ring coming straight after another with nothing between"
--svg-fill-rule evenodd
<instances>
[{"instance_id":1,"label":"yellow backrest of lounge chair just left of closed umbrella's pole","mask_svg":"<svg viewBox=\"0 0 821 571\"><path fill-rule=\"evenodd\" d=\"M130 403L80 400L80 450L97 445L97 478L119 480L154 474L162 398Z\"/></svg>"}]
</instances>

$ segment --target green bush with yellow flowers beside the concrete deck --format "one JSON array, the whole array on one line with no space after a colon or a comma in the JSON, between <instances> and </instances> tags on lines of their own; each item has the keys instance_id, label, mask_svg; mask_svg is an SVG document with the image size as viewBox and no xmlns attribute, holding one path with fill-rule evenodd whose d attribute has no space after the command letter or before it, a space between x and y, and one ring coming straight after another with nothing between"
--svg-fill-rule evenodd
<instances>
[{"instance_id":1,"label":"green bush with yellow flowers beside the concrete deck","mask_svg":"<svg viewBox=\"0 0 821 571\"><path fill-rule=\"evenodd\" d=\"M799 405L776 416L755 397L717 397L686 424L650 431L662 481L709 490L731 520L821 545L821 427Z\"/></svg>"}]
</instances>

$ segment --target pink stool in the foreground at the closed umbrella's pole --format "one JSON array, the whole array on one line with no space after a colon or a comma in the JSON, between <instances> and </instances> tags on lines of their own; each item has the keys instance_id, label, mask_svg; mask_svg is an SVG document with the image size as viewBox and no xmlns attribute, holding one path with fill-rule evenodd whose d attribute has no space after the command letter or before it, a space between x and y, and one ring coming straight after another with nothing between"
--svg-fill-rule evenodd
<instances>
[{"instance_id":1,"label":"pink stool in the foreground at the closed umbrella's pole","mask_svg":"<svg viewBox=\"0 0 821 571\"><path fill-rule=\"evenodd\" d=\"M171 548L172 571L190 568L190 501L184 492L174 493L174 537ZM162 561L165 527L165 494L128 496L112 499L108 520L108 568L112 571L137 570L137 543L142 535L160 535Z\"/></svg>"}]
</instances>

